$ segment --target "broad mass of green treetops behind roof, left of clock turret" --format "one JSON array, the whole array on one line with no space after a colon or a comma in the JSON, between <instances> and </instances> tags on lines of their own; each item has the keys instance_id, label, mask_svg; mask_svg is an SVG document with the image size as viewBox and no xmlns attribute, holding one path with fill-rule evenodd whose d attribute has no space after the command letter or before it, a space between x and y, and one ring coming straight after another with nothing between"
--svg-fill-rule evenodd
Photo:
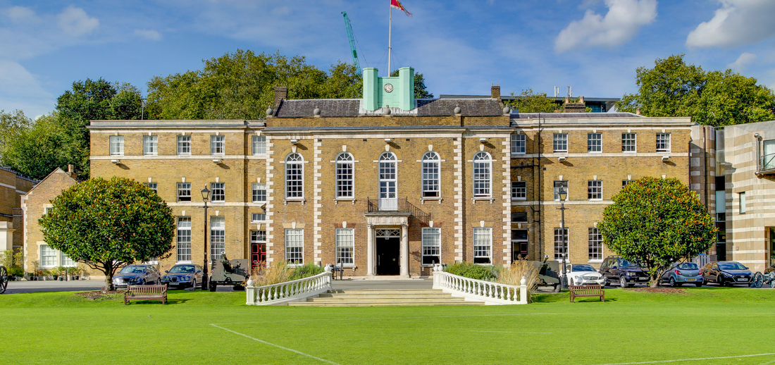
<instances>
[{"instance_id":1,"label":"broad mass of green treetops behind roof, left of clock turret","mask_svg":"<svg viewBox=\"0 0 775 365\"><path fill-rule=\"evenodd\" d=\"M288 87L288 98L360 98L363 88L355 67L342 62L326 72L305 57L236 50L203 63L148 82L150 118L263 119L277 85Z\"/></svg>"}]
</instances>

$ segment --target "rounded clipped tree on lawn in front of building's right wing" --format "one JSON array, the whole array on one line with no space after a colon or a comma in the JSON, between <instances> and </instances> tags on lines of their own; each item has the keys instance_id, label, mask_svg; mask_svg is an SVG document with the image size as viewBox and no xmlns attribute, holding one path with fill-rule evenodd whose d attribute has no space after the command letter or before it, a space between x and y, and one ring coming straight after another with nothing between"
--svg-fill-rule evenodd
<instances>
[{"instance_id":1,"label":"rounded clipped tree on lawn in front of building's right wing","mask_svg":"<svg viewBox=\"0 0 775 365\"><path fill-rule=\"evenodd\" d=\"M675 178L643 177L613 198L598 223L603 243L649 271L655 288L670 263L715 242L716 228L698 195Z\"/></svg>"}]
</instances>

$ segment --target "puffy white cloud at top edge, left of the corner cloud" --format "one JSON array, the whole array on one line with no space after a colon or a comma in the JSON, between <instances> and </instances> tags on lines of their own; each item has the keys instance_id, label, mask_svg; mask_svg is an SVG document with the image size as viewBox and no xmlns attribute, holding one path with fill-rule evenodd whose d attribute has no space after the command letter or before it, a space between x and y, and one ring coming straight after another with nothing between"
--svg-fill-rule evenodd
<instances>
[{"instance_id":1,"label":"puffy white cloud at top edge, left of the corner cloud","mask_svg":"<svg viewBox=\"0 0 775 365\"><path fill-rule=\"evenodd\" d=\"M621 46L656 19L656 0L605 0L605 5L605 17L587 10L583 19L570 22L554 40L554 50Z\"/></svg>"}]
</instances>

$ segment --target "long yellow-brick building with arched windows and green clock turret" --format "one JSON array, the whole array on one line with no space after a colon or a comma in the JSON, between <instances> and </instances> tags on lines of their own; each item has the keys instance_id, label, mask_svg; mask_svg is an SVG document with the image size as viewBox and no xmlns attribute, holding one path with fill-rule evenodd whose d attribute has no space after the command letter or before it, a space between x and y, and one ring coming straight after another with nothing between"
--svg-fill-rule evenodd
<instances>
[{"instance_id":1,"label":"long yellow-brick building with arched windows and green clock turret","mask_svg":"<svg viewBox=\"0 0 775 365\"><path fill-rule=\"evenodd\" d=\"M689 183L691 121L629 113L515 114L489 97L413 98L413 70L363 71L362 99L288 100L267 119L93 121L91 173L153 188L177 215L174 254L341 263L353 276L425 276L563 252L597 263L595 228L623 184ZM207 226L200 191L207 188Z\"/></svg>"}]
</instances>

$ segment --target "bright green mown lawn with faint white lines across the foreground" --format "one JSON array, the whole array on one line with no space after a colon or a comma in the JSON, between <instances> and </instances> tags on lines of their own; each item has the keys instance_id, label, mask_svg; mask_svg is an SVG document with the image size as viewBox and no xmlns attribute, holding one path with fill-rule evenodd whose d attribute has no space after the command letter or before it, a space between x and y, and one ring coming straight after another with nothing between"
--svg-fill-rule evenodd
<instances>
[{"instance_id":1,"label":"bright green mown lawn with faint white lines across the foreground","mask_svg":"<svg viewBox=\"0 0 775 365\"><path fill-rule=\"evenodd\" d=\"M0 363L602 364L771 353L670 364L775 364L775 290L686 293L400 308L247 307L243 292L171 291L168 305L129 306L3 294Z\"/></svg>"}]
</instances>

